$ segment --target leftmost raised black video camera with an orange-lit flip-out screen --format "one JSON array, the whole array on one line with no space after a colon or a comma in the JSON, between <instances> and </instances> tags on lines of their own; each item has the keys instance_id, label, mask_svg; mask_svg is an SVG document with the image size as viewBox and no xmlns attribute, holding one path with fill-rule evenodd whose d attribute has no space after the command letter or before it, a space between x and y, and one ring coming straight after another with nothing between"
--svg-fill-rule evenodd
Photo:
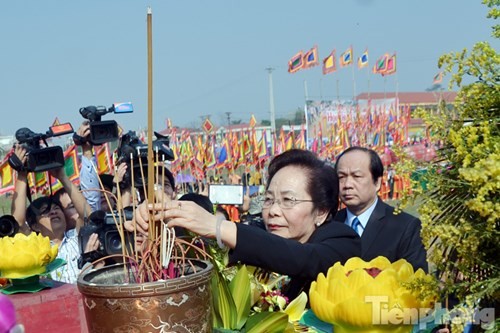
<instances>
[{"instance_id":1,"label":"leftmost raised black video camera with an orange-lit flip-out screen","mask_svg":"<svg viewBox=\"0 0 500 333\"><path fill-rule=\"evenodd\" d=\"M52 126L43 133L35 133L29 128L23 127L16 131L16 140L26 149L27 161L23 165L21 160L12 154L9 157L10 166L17 171L43 172L47 170L62 168L64 166L64 154L59 146L49 147L47 139L55 136L73 133L70 123ZM45 147L41 147L43 141Z\"/></svg>"}]
</instances>

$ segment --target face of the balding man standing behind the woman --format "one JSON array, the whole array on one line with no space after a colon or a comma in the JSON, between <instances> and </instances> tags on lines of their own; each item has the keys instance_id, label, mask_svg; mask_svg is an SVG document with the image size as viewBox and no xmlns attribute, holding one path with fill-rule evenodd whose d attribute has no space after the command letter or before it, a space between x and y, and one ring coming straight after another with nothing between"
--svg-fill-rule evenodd
<instances>
[{"instance_id":1,"label":"face of the balding man standing behind the woman","mask_svg":"<svg viewBox=\"0 0 500 333\"><path fill-rule=\"evenodd\" d=\"M354 150L337 162L339 194L342 202L356 215L374 202L380 189L380 178L374 183L370 173L370 155Z\"/></svg>"}]
</instances>

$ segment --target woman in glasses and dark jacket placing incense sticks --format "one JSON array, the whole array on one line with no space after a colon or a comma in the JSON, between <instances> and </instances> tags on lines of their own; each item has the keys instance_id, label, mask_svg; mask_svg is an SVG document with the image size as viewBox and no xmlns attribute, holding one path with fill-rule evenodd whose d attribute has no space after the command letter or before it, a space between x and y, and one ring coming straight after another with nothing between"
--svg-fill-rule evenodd
<instances>
[{"instance_id":1,"label":"woman in glasses and dark jacket placing incense sticks","mask_svg":"<svg viewBox=\"0 0 500 333\"><path fill-rule=\"evenodd\" d=\"M149 205L155 217L215 238L230 248L231 262L242 262L288 275L285 295L308 291L320 272L361 254L360 239L346 225L330 223L338 208L335 170L306 150L289 150L269 165L262 215L266 230L226 221L192 202ZM161 207L160 207L161 206ZM138 210L138 227L148 228L148 211Z\"/></svg>"}]
</instances>

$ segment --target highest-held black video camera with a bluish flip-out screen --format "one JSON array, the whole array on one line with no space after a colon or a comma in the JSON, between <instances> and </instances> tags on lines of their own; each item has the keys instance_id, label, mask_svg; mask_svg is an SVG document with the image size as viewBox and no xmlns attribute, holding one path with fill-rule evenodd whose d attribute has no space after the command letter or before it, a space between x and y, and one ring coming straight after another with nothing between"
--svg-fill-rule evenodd
<instances>
[{"instance_id":1,"label":"highest-held black video camera with a bluish flip-out screen","mask_svg":"<svg viewBox=\"0 0 500 333\"><path fill-rule=\"evenodd\" d=\"M80 114L83 118L89 120L90 139L89 142L98 146L106 142L118 140L118 124L114 120L103 120L101 117L107 113L131 113L134 112L132 103L115 103L108 109L104 106L86 106L80 108ZM73 135L75 143L85 142L82 137Z\"/></svg>"}]
</instances>

